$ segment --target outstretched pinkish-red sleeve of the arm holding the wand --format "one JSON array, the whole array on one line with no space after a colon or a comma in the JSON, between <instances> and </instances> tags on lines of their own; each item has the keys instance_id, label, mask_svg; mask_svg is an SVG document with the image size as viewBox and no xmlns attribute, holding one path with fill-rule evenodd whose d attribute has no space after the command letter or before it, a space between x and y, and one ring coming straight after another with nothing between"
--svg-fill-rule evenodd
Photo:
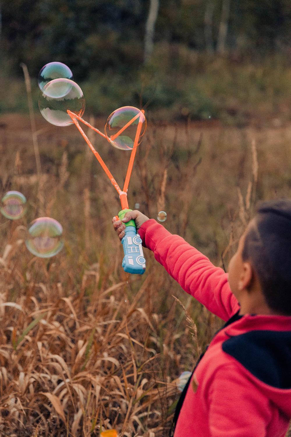
<instances>
[{"instance_id":1,"label":"outstretched pinkish-red sleeve of the arm holding the wand","mask_svg":"<svg viewBox=\"0 0 291 437\"><path fill-rule=\"evenodd\" d=\"M199 250L182 237L172 235L154 219L144 222L138 232L144 246L154 252L155 259L209 311L228 320L239 310L229 288L228 274L215 267Z\"/></svg>"}]
</instances>

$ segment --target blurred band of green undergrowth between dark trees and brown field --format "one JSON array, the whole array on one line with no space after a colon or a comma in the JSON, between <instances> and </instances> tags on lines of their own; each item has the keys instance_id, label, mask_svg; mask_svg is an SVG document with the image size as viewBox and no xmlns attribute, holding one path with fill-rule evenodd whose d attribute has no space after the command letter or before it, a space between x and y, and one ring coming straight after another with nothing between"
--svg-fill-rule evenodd
<instances>
[{"instance_id":1,"label":"blurred band of green undergrowth between dark trees and brown field","mask_svg":"<svg viewBox=\"0 0 291 437\"><path fill-rule=\"evenodd\" d=\"M184 50L181 52L182 59ZM79 82L86 98L85 118L88 114L108 117L116 108L130 104L145 105L152 117L168 121L219 119L226 125L244 126L269 124L273 119L282 124L291 119L291 68L284 57L269 56L254 65L198 55L191 68L181 60L175 75L168 73L171 59L160 62L161 68L156 61L151 68L140 68L131 76L116 74L112 80L107 74L91 73L88 80ZM0 74L0 92L0 113L27 112L23 80ZM32 93L38 111L35 77Z\"/></svg>"}]
</instances>

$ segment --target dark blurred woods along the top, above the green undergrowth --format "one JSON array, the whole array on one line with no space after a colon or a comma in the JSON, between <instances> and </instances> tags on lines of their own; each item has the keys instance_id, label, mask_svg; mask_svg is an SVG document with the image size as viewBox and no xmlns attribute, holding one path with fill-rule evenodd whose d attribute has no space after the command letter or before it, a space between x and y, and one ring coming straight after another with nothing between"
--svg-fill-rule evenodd
<instances>
[{"instance_id":1,"label":"dark blurred woods along the top, above the green undergrowth","mask_svg":"<svg viewBox=\"0 0 291 437\"><path fill-rule=\"evenodd\" d=\"M2 56L18 73L20 62L33 71L54 59L76 79L126 74L151 62L151 38L254 59L291 51L290 0L2 0L1 12Z\"/></svg>"}]
</instances>

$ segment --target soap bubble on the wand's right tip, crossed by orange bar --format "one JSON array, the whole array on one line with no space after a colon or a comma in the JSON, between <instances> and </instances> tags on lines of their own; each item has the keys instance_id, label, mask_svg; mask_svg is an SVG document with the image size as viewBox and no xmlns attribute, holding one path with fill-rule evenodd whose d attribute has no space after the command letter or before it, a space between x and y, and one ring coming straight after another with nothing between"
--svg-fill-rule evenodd
<instances>
[{"instance_id":1,"label":"soap bubble on the wand's right tip, crossed by orange bar","mask_svg":"<svg viewBox=\"0 0 291 437\"><path fill-rule=\"evenodd\" d=\"M134 120L130 123L132 119ZM134 108L134 106L123 106L122 108L113 111L113 113L107 118L104 129L105 135L108 137L110 144L116 147L116 149L132 150L139 121L141 122L141 129L137 146L140 144L141 137L147 129L147 120L144 113L141 112L140 109ZM124 128L127 123L130 124L116 137L115 135L120 131L120 129Z\"/></svg>"}]
</instances>

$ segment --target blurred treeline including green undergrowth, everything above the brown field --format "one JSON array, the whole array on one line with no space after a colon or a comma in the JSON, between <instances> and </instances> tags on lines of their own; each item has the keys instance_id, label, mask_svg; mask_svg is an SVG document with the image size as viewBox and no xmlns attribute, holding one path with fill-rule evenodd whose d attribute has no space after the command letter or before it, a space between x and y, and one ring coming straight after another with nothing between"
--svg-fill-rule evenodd
<instances>
[{"instance_id":1,"label":"blurred treeline including green undergrowth, everything above the brown field","mask_svg":"<svg viewBox=\"0 0 291 437\"><path fill-rule=\"evenodd\" d=\"M95 114L151 101L161 118L291 119L290 0L0 0L0 48L15 96L21 62L35 80L54 60ZM26 108L11 96L0 111Z\"/></svg>"}]
</instances>

